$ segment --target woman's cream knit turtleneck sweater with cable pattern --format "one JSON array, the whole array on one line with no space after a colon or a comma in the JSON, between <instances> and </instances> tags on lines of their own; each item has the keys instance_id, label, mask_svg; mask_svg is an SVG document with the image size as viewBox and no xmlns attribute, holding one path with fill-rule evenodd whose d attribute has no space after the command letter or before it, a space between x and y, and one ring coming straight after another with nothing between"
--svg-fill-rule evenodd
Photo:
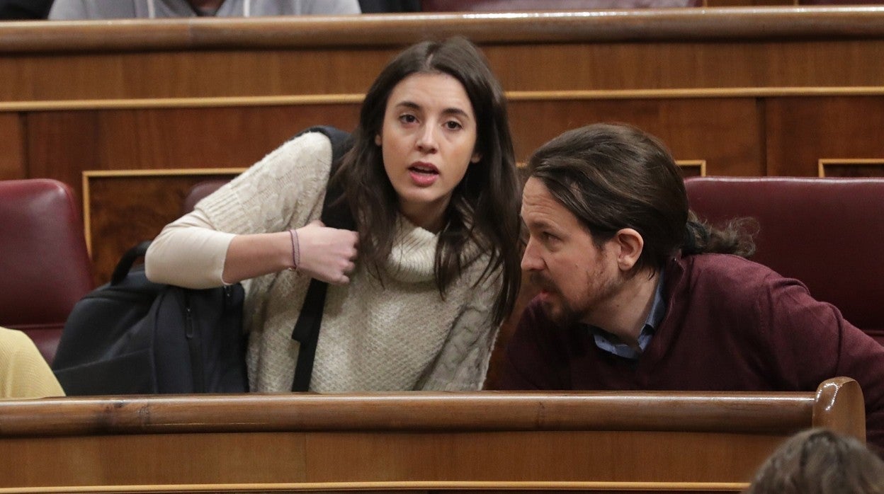
<instances>
[{"instance_id":1,"label":"woman's cream knit turtleneck sweater with cable pattern","mask_svg":"<svg viewBox=\"0 0 884 494\"><path fill-rule=\"evenodd\" d=\"M220 285L231 233L281 232L318 219L330 167L324 134L286 142L166 226L148 254L149 277ZM311 391L481 388L497 334L492 305L499 276L476 285L487 255L469 248L462 254L466 268L443 300L433 275L437 242L400 217L380 280L357 261L348 285L329 285ZM282 271L244 285L251 389L288 391L299 346L291 334L309 277Z\"/></svg>"}]
</instances>

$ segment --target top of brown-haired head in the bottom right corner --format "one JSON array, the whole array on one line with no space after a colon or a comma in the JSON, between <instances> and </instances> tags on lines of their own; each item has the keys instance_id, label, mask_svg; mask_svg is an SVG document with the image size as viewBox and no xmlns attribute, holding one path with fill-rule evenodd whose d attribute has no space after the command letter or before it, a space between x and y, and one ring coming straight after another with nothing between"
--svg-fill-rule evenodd
<instances>
[{"instance_id":1,"label":"top of brown-haired head in the bottom right corner","mask_svg":"<svg viewBox=\"0 0 884 494\"><path fill-rule=\"evenodd\" d=\"M855 437L808 429L790 437L758 469L748 494L884 492L884 461Z\"/></svg>"}]
</instances>

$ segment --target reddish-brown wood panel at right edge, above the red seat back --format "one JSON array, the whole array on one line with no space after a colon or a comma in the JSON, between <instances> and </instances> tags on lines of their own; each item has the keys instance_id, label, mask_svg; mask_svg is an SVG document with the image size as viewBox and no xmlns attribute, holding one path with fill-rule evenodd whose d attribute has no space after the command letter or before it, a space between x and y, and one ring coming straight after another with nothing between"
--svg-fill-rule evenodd
<instances>
[{"instance_id":1,"label":"reddish-brown wood panel at right edge, above the red seat back","mask_svg":"<svg viewBox=\"0 0 884 494\"><path fill-rule=\"evenodd\" d=\"M884 158L884 97L766 103L768 175L812 177L823 158Z\"/></svg>"}]
</instances>

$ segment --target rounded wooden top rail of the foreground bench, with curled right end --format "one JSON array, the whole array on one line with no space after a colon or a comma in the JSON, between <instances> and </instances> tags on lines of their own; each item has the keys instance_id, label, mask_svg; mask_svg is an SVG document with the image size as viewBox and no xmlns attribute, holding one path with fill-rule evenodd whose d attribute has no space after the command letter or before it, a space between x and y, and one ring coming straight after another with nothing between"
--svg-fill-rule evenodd
<instances>
[{"instance_id":1,"label":"rounded wooden top rail of the foreground bench, with curled right end","mask_svg":"<svg viewBox=\"0 0 884 494\"><path fill-rule=\"evenodd\" d=\"M865 422L856 381L834 377L819 388L825 386L836 391L826 399L811 391L377 391L13 400L0 401L4 419L0 437L286 430L649 430L763 435L804 429L808 423L818 423L821 415L832 417L830 426L853 414L862 415L860 423ZM859 407L855 407L857 402Z\"/></svg>"}]
</instances>

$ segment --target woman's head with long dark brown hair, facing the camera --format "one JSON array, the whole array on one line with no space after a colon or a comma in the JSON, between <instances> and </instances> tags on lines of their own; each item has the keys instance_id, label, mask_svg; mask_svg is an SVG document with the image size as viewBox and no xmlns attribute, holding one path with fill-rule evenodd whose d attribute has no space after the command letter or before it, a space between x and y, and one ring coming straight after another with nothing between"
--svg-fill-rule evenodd
<instances>
[{"instance_id":1,"label":"woman's head with long dark brown hair, facing the camera","mask_svg":"<svg viewBox=\"0 0 884 494\"><path fill-rule=\"evenodd\" d=\"M362 259L385 262L401 214L440 233L436 273L444 292L473 239L491 254L487 272L503 268L494 311L502 321L521 276L520 194L506 98L484 55L461 37L405 49L365 95L353 136L339 177Z\"/></svg>"}]
</instances>

